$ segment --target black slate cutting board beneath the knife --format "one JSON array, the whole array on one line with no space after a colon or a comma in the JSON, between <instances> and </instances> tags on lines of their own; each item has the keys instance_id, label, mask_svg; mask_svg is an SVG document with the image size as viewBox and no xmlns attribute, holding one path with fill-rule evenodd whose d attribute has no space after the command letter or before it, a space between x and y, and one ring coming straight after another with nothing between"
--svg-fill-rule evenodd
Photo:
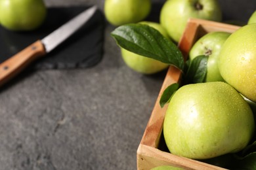
<instances>
[{"instance_id":1,"label":"black slate cutting board beneath the knife","mask_svg":"<svg viewBox=\"0 0 256 170\"><path fill-rule=\"evenodd\" d=\"M9 31L0 26L0 63L26 46L49 35L89 7L51 7L41 27L34 31ZM30 65L30 69L73 69L96 65L102 58L104 15L97 10L93 17L53 51Z\"/></svg>"}]
</instances>

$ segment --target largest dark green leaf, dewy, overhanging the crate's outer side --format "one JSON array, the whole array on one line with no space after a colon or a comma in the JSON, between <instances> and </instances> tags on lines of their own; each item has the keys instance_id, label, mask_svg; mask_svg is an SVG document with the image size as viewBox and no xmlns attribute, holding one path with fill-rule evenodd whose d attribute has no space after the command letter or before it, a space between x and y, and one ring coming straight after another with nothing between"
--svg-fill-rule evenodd
<instances>
[{"instance_id":1,"label":"largest dark green leaf, dewy, overhanging the crate's outer side","mask_svg":"<svg viewBox=\"0 0 256 170\"><path fill-rule=\"evenodd\" d=\"M153 27L126 24L117 27L111 35L119 46L135 54L174 65L181 70L184 67L184 58L177 45Z\"/></svg>"}]
</instances>

